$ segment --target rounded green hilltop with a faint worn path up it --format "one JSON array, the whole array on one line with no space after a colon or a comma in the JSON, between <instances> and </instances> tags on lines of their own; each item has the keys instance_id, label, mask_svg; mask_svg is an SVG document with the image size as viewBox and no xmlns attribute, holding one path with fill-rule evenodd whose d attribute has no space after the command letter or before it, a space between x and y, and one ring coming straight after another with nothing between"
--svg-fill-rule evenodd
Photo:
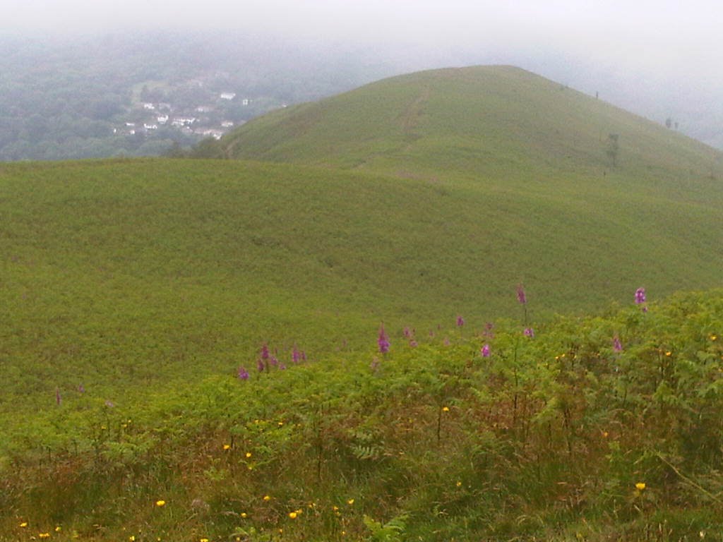
<instances>
[{"instance_id":1,"label":"rounded green hilltop with a faint worn path up it","mask_svg":"<svg viewBox=\"0 0 723 542\"><path fill-rule=\"evenodd\" d=\"M214 151L401 176L602 180L612 168L610 134L617 135L615 163L639 182L685 183L719 171L720 155L711 148L510 66L385 79L251 121Z\"/></svg>"}]
</instances>

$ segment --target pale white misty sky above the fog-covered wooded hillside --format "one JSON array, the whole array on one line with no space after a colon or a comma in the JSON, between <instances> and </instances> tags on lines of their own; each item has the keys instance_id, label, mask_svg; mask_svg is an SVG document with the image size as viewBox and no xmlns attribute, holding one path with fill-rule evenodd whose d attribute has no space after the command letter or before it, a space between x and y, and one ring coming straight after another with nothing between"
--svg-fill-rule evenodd
<instances>
[{"instance_id":1,"label":"pale white misty sky above the fog-covered wooded hillside","mask_svg":"<svg viewBox=\"0 0 723 542\"><path fill-rule=\"evenodd\" d=\"M723 4L589 0L0 0L0 30L238 29L333 43L484 51L505 60L550 51L607 69L723 81ZM438 55L441 56L441 55Z\"/></svg>"}]
</instances>

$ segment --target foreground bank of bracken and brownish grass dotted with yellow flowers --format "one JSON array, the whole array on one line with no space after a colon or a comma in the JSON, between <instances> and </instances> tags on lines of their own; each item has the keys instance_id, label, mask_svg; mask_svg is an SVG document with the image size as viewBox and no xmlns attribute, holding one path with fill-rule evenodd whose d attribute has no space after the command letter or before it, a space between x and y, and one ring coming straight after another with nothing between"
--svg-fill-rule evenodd
<instances>
[{"instance_id":1,"label":"foreground bank of bracken and brownish grass dotted with yellow flowers","mask_svg":"<svg viewBox=\"0 0 723 542\"><path fill-rule=\"evenodd\" d=\"M87 392L26 428L0 540L717 540L722 315L722 291L631 296L534 337L372 332L143 405Z\"/></svg>"}]
</instances>

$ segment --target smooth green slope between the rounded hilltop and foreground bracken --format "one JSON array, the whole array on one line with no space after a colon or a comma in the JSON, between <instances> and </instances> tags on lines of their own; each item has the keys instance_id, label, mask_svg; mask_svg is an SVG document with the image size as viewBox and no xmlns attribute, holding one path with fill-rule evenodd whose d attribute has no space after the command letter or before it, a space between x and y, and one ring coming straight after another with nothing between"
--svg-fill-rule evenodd
<instances>
[{"instance_id":1,"label":"smooth green slope between the rounded hilltop and foreground bracken","mask_svg":"<svg viewBox=\"0 0 723 542\"><path fill-rule=\"evenodd\" d=\"M231 371L267 341L319 357L380 321L480 328L517 314L518 283L538 320L721 283L713 185L697 202L120 160L4 165L0 193L4 412Z\"/></svg>"}]
</instances>

